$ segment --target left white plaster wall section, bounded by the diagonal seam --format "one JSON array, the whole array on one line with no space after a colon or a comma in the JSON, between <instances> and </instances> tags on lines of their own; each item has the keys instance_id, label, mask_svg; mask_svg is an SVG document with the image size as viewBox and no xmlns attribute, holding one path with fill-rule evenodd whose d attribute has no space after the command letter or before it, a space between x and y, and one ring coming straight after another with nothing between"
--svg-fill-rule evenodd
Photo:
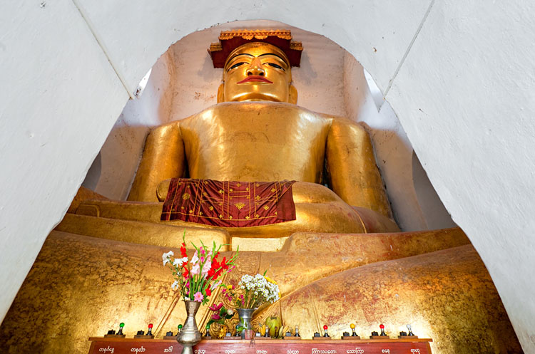
<instances>
[{"instance_id":1,"label":"left white plaster wall section, bounded by the diagonal seam","mask_svg":"<svg viewBox=\"0 0 535 354\"><path fill-rule=\"evenodd\" d=\"M71 1L0 4L0 318L128 98Z\"/></svg>"}]
</instances>

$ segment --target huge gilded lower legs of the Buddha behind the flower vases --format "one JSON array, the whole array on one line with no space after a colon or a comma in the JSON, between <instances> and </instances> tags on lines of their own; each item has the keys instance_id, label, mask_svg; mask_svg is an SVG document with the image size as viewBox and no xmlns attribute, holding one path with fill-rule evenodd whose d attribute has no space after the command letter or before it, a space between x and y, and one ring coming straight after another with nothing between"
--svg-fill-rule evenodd
<instances>
[{"instance_id":1,"label":"huge gilded lower legs of the Buddha behind the flower vases","mask_svg":"<svg viewBox=\"0 0 535 354\"><path fill-rule=\"evenodd\" d=\"M459 229L370 242L369 235L324 236L292 236L277 253L241 252L227 281L267 269L282 286L282 301L260 310L254 323L282 314L304 337L324 323L332 336L349 323L360 335L379 323L395 335L412 323L421 338L433 338L433 353L521 353L489 274ZM86 353L89 336L120 322L128 337L147 323L156 338L175 331L185 310L161 264L163 251L53 231L0 327L0 352ZM199 326L208 315L201 306Z\"/></svg>"}]
</instances>

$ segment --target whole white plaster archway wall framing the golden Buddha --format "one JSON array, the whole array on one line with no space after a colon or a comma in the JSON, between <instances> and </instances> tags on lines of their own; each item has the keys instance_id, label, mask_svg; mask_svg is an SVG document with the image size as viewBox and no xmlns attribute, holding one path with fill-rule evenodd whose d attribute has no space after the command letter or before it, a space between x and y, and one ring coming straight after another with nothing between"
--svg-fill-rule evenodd
<instances>
[{"instance_id":1,"label":"whole white plaster archway wall framing the golden Buddha","mask_svg":"<svg viewBox=\"0 0 535 354\"><path fill-rule=\"evenodd\" d=\"M78 1L93 37L74 2L0 5L2 316L127 93L170 43L272 19L331 38L370 71L535 353L533 1Z\"/></svg>"}]
</instances>

